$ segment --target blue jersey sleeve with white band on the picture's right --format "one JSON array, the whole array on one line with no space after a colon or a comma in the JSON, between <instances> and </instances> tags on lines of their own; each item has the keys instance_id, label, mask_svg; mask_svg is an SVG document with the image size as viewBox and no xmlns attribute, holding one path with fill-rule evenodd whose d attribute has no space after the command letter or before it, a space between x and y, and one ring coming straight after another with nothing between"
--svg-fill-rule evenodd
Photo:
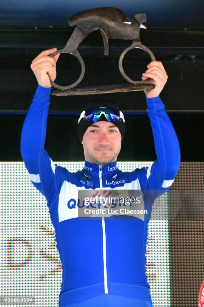
<instances>
[{"instance_id":1,"label":"blue jersey sleeve with white band on the picture's right","mask_svg":"<svg viewBox=\"0 0 204 307\"><path fill-rule=\"evenodd\" d=\"M180 165L179 142L173 125L159 96L147 98L148 116L152 127L157 159L148 168L138 170L142 190L157 190L162 195L172 185Z\"/></svg>"}]
</instances>

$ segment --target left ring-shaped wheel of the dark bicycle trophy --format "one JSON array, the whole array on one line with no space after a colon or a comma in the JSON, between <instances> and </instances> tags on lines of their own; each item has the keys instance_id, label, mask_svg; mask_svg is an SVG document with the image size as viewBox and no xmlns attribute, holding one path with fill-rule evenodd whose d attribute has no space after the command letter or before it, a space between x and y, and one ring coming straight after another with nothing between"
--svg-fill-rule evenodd
<instances>
[{"instance_id":1,"label":"left ring-shaped wheel of the dark bicycle trophy","mask_svg":"<svg viewBox=\"0 0 204 307\"><path fill-rule=\"evenodd\" d=\"M51 53L50 57L53 57L53 56L55 56L56 54L59 54L59 53L70 53L70 54L73 54L79 60L79 62L81 64L81 75L80 75L79 79L75 83L73 83L71 85L66 85L66 86L61 86L61 85L56 84L53 80L51 80L51 78L49 76L51 85L54 86L55 88L59 88L61 90L66 90L66 89L70 89L70 88L73 88L73 87L77 86L77 84L79 84L81 82L81 80L83 79L84 74L85 74L84 60L82 59L79 51L77 49L75 49L75 50L72 50L72 51L69 52L65 48L57 50L56 52Z\"/></svg>"}]
</instances>

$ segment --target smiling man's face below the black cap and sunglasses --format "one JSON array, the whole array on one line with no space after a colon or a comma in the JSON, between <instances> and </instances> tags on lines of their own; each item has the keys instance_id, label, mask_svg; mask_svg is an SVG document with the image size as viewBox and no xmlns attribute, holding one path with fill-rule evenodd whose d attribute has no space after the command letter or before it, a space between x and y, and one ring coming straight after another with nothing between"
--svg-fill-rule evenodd
<instances>
[{"instance_id":1,"label":"smiling man's face below the black cap and sunglasses","mask_svg":"<svg viewBox=\"0 0 204 307\"><path fill-rule=\"evenodd\" d=\"M84 133L85 160L104 165L117 160L121 148L121 134L112 122L101 120L89 126Z\"/></svg>"}]
</instances>

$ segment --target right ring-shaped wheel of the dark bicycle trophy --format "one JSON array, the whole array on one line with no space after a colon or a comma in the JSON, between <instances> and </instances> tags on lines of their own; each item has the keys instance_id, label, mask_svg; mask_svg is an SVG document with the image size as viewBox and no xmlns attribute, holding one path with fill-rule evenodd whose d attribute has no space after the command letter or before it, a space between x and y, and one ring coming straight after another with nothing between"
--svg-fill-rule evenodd
<instances>
[{"instance_id":1,"label":"right ring-shaped wheel of the dark bicycle trophy","mask_svg":"<svg viewBox=\"0 0 204 307\"><path fill-rule=\"evenodd\" d=\"M134 81L134 80L130 79L130 78L126 75L126 73L124 72L124 70L123 70L123 66L122 66L123 58L124 58L125 54L126 54L130 49L133 49L133 48L139 48L139 49L142 49L142 50L146 51L146 52L150 55L151 60L152 60L152 61L155 61L155 57L154 57L153 53L152 53L147 47L145 47L145 46L142 45L141 43L138 44L137 41L133 41L132 45L130 45L129 47L127 47L127 48L121 53L121 55L120 55L119 62L118 62L118 66L119 66L120 73L121 73L121 75L122 75L128 82L130 82L130 83L132 83L132 84L141 84L141 83L144 84L144 83L147 83L147 82L149 82L149 80L151 80L151 78L148 78L148 79L146 79L146 80L144 80L144 81L143 81L143 80L142 80L142 81Z\"/></svg>"}]
</instances>

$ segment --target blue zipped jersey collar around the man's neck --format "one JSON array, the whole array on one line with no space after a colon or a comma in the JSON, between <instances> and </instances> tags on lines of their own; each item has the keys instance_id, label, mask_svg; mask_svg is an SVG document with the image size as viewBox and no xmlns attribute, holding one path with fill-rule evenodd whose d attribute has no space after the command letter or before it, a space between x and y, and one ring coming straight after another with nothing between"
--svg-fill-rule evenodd
<instances>
[{"instance_id":1,"label":"blue zipped jersey collar around the man's neck","mask_svg":"<svg viewBox=\"0 0 204 307\"><path fill-rule=\"evenodd\" d=\"M99 171L100 171L100 167L101 167L101 170L102 170L102 174L111 174L118 169L117 161L113 161L111 163L104 164L104 165L101 166L101 165L91 163L91 162L88 162L88 161L85 160L83 171L98 175Z\"/></svg>"}]
</instances>

